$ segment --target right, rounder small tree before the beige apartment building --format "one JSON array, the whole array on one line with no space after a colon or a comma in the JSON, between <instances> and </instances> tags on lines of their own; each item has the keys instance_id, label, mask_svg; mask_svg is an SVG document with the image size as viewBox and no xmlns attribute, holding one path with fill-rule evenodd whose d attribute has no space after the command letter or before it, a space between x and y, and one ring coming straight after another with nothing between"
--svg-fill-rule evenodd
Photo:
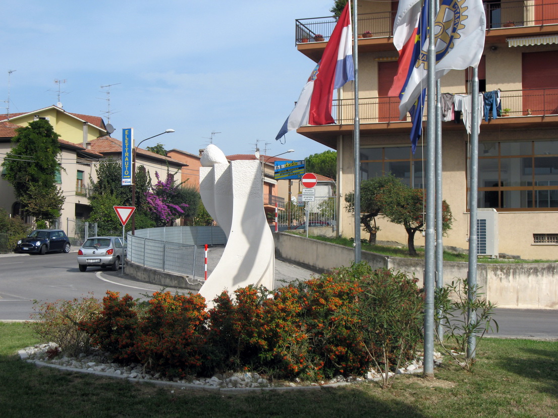
<instances>
[{"instance_id":1,"label":"right, rounder small tree before the beige apartment building","mask_svg":"<svg viewBox=\"0 0 558 418\"><path fill-rule=\"evenodd\" d=\"M424 190L413 189L401 181L393 182L378 195L383 215L389 221L403 225L407 231L407 246L409 255L416 255L415 234L424 226L426 205ZM442 232L451 227L453 217L448 202L442 201Z\"/></svg>"}]
</instances>

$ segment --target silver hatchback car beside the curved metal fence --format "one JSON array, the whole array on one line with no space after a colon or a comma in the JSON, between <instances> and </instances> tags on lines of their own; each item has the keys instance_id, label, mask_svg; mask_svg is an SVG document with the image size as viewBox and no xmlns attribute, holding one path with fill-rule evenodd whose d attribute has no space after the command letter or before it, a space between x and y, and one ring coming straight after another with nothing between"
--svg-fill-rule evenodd
<instances>
[{"instance_id":1,"label":"silver hatchback car beside the curved metal fence","mask_svg":"<svg viewBox=\"0 0 558 418\"><path fill-rule=\"evenodd\" d=\"M117 271L124 261L127 241L118 236L95 236L88 238L78 251L79 271L88 267L109 267Z\"/></svg>"}]
</instances>

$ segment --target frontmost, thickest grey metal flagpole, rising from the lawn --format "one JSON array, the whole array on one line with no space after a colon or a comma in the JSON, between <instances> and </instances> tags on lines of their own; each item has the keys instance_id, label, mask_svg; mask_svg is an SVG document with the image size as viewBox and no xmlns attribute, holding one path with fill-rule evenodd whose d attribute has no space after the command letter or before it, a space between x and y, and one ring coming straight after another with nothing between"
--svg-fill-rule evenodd
<instances>
[{"instance_id":1,"label":"frontmost, thickest grey metal flagpole, rising from the lawn","mask_svg":"<svg viewBox=\"0 0 558 418\"><path fill-rule=\"evenodd\" d=\"M435 0L431 0L428 27L434 28ZM434 31L429 31L426 118L426 242L425 242L425 311L424 311L424 376L434 377L434 227L435 227L435 157L436 157L436 50ZM433 117L434 116L434 117Z\"/></svg>"}]
</instances>

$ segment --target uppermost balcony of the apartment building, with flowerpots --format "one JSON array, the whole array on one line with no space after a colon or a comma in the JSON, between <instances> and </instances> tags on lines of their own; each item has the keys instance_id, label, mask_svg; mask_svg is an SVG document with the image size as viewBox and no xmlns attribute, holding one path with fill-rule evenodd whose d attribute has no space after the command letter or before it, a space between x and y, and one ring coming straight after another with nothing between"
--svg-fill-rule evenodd
<instances>
[{"instance_id":1,"label":"uppermost balcony of the apartment building, with flowerpots","mask_svg":"<svg viewBox=\"0 0 558 418\"><path fill-rule=\"evenodd\" d=\"M558 33L558 0L502 0L485 3L487 16L486 43L505 43L507 38L541 36ZM358 31L371 32L371 37L358 41L359 51L395 51L392 43L396 12L362 13ZM318 62L335 27L335 18L297 19L295 42L302 54ZM315 36L323 35L324 41Z\"/></svg>"}]
</instances>

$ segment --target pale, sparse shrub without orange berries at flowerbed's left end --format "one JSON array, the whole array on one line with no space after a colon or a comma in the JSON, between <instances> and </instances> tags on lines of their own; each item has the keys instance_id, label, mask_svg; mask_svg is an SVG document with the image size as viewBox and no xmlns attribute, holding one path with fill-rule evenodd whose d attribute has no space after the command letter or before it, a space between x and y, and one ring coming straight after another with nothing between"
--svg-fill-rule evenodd
<instances>
[{"instance_id":1,"label":"pale, sparse shrub without orange berries at flowerbed's left end","mask_svg":"<svg viewBox=\"0 0 558 418\"><path fill-rule=\"evenodd\" d=\"M31 329L42 342L54 342L61 352L71 356L89 351L90 336L79 328L79 323L94 318L100 310L100 303L92 294L41 305L33 300L33 310L31 317L36 321L30 323Z\"/></svg>"}]
</instances>

